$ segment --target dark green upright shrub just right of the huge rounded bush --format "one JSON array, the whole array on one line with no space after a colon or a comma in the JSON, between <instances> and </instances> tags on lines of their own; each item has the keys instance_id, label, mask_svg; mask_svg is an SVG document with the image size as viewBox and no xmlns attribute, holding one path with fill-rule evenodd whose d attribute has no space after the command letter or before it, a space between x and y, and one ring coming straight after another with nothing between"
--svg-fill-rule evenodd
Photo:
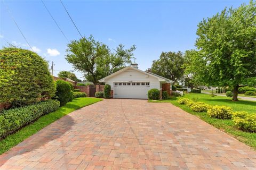
<instances>
[{"instance_id":1,"label":"dark green upright shrub just right of the huge rounded bush","mask_svg":"<svg viewBox=\"0 0 256 170\"><path fill-rule=\"evenodd\" d=\"M70 100L71 89L68 82L64 80L55 81L56 84L56 94L55 99L60 101L60 106L65 105Z\"/></svg>"}]
</instances>

